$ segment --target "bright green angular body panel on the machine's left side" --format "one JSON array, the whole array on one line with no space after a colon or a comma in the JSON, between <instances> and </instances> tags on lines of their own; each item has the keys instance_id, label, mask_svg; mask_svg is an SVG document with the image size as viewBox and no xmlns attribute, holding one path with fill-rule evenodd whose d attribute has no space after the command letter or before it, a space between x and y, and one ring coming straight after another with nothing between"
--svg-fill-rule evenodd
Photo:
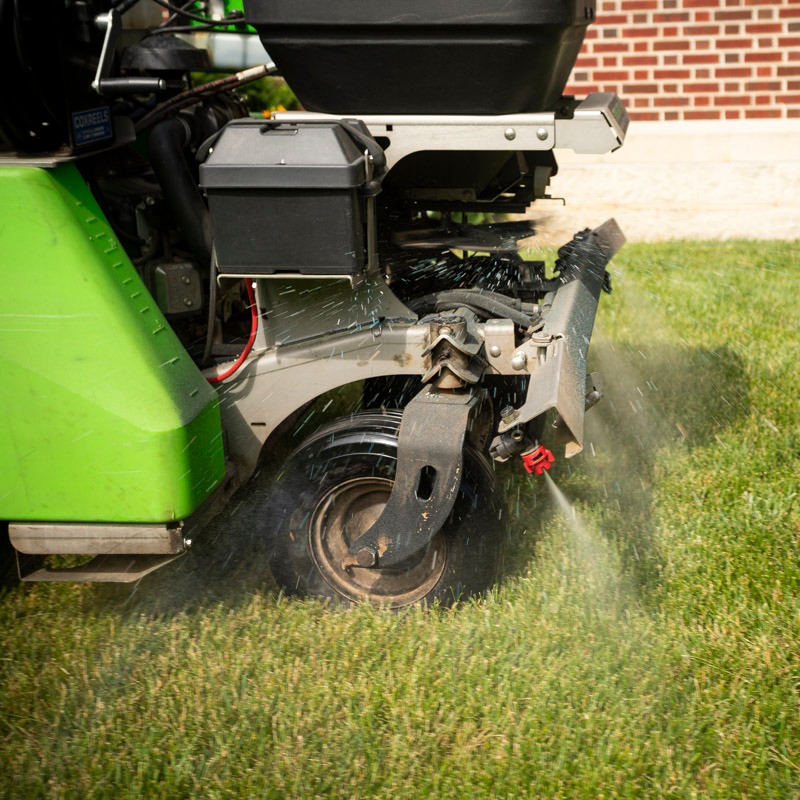
<instances>
[{"instance_id":1,"label":"bright green angular body panel on the machine's left side","mask_svg":"<svg viewBox=\"0 0 800 800\"><path fill-rule=\"evenodd\" d=\"M218 398L77 168L0 167L0 519L167 522L222 480Z\"/></svg>"}]
</instances>

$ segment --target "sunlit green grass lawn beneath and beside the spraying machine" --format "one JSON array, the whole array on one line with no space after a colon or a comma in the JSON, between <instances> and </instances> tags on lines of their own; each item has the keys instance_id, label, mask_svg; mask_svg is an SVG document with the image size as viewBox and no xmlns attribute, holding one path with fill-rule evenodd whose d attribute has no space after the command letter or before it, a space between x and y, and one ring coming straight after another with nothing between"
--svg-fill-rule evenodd
<instances>
[{"instance_id":1,"label":"sunlit green grass lawn beneath and beside the spraying machine","mask_svg":"<svg viewBox=\"0 0 800 800\"><path fill-rule=\"evenodd\" d=\"M800 243L613 272L575 514L504 469L490 596L289 601L213 533L133 593L11 587L0 792L800 798Z\"/></svg>"}]
</instances>

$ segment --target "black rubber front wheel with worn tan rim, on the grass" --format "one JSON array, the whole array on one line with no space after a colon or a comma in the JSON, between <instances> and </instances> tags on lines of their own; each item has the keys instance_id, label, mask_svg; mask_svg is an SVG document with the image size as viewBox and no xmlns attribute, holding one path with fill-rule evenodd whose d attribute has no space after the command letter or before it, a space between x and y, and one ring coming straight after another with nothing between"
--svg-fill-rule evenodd
<instances>
[{"instance_id":1,"label":"black rubber front wheel with worn tan rim, on the grass","mask_svg":"<svg viewBox=\"0 0 800 800\"><path fill-rule=\"evenodd\" d=\"M259 502L251 519L287 594L393 608L449 605L499 578L505 519L491 465L470 447L453 511L425 551L402 569L340 567L342 547L366 530L388 499L401 419L400 412L364 412L323 427L289 457Z\"/></svg>"}]
</instances>

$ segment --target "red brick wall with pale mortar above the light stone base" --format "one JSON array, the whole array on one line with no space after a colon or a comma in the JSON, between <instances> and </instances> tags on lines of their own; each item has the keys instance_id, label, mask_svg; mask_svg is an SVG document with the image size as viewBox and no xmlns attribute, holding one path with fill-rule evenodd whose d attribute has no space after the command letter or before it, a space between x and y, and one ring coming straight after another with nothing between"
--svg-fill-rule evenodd
<instances>
[{"instance_id":1,"label":"red brick wall with pale mortar above the light stone base","mask_svg":"<svg viewBox=\"0 0 800 800\"><path fill-rule=\"evenodd\" d=\"M638 120L800 118L800 0L598 0L566 91Z\"/></svg>"}]
</instances>

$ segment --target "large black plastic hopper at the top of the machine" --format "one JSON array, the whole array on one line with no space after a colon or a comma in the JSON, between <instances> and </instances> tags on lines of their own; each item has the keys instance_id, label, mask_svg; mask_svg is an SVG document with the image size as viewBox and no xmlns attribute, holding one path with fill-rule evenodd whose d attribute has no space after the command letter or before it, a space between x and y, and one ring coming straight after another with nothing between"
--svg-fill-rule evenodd
<instances>
[{"instance_id":1,"label":"large black plastic hopper at the top of the machine","mask_svg":"<svg viewBox=\"0 0 800 800\"><path fill-rule=\"evenodd\" d=\"M309 111L515 114L555 106L594 0L245 0Z\"/></svg>"}]
</instances>

